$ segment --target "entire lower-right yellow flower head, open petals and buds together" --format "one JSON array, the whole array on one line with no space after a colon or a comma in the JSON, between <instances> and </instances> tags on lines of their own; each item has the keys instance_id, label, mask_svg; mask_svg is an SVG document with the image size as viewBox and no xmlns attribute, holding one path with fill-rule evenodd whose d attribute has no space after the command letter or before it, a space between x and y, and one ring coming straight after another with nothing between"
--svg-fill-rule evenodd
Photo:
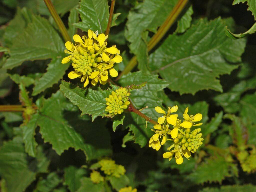
<instances>
[{"instance_id":1,"label":"entire lower-right yellow flower head, open petals and buds together","mask_svg":"<svg viewBox=\"0 0 256 192\"><path fill-rule=\"evenodd\" d=\"M169 161L175 155L176 163L183 163L183 156L189 158L191 152L195 153L196 150L202 145L202 134L199 133L201 129L196 129L191 132L192 126L200 126L202 123L195 124L195 122L201 121L202 114L197 113L196 115L188 115L188 107L185 109L183 114L183 121L178 119L177 114L171 114L178 110L178 106L168 107L167 113L161 107L155 107L155 111L163 116L159 117L158 124L154 125L152 131L155 134L149 140L149 147L152 147L156 151L164 145L166 141L173 141L168 151L163 154L164 158L169 158ZM172 139L167 139L170 135ZM162 139L160 142L160 138ZM174 148L174 149L173 149Z\"/></svg>"}]
</instances>

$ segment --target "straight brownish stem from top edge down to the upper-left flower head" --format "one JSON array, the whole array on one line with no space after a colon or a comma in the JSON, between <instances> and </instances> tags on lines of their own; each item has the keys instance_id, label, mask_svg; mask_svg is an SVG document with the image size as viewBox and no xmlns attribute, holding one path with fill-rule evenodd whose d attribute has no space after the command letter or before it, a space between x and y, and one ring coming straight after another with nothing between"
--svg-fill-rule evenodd
<instances>
[{"instance_id":1,"label":"straight brownish stem from top edge down to the upper-left flower head","mask_svg":"<svg viewBox=\"0 0 256 192\"><path fill-rule=\"evenodd\" d=\"M49 12L50 12L51 16L53 17L53 19L55 20L56 24L58 25L58 27L60 29L60 33L61 33L63 39L65 41L71 41L71 38L68 35L68 31L67 31L65 25L63 24L60 16L56 12L56 9L54 8L51 0L44 0L44 1L45 1L45 4L46 4L47 8L49 9Z\"/></svg>"}]
</instances>

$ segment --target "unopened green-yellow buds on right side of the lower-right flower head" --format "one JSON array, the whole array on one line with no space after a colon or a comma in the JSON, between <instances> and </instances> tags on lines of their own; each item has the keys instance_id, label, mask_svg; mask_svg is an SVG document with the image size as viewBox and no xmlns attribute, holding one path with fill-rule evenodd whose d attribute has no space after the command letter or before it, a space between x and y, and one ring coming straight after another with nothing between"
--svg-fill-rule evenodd
<instances>
[{"instance_id":1,"label":"unopened green-yellow buds on right side of the lower-right flower head","mask_svg":"<svg viewBox=\"0 0 256 192\"><path fill-rule=\"evenodd\" d=\"M202 133L200 128L195 129L194 131L190 131L190 129L186 129L185 136L182 134L178 134L178 136L174 139L174 143L179 143L181 140L182 150L188 150L191 153L195 153L196 150L203 144Z\"/></svg>"}]
</instances>

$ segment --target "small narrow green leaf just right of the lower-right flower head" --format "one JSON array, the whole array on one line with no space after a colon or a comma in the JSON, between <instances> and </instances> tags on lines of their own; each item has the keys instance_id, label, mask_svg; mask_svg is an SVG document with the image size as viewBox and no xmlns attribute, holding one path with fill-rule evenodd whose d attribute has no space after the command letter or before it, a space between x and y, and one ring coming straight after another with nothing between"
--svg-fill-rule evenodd
<instances>
[{"instance_id":1,"label":"small narrow green leaf just right of the lower-right flower head","mask_svg":"<svg viewBox=\"0 0 256 192\"><path fill-rule=\"evenodd\" d=\"M211 119L209 123L207 123L203 129L201 129L201 133L203 137L206 137L209 133L212 133L218 129L218 126L222 122L223 111L219 113L215 113L215 117Z\"/></svg>"}]
</instances>

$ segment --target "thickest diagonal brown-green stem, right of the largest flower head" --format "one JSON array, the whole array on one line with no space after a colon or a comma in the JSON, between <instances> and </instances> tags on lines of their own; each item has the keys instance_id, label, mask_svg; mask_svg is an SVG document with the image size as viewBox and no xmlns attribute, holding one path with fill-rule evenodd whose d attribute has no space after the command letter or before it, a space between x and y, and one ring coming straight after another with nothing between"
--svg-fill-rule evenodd
<instances>
[{"instance_id":1,"label":"thickest diagonal brown-green stem, right of the largest flower head","mask_svg":"<svg viewBox=\"0 0 256 192\"><path fill-rule=\"evenodd\" d=\"M150 39L147 45L148 52L151 51L156 44L164 37L169 28L174 24L179 14L182 12L184 7L186 6L188 0L179 0L177 4L174 6L165 22L158 28L157 32ZM137 57L133 56L133 58L129 61L128 65L125 66L124 70L119 74L116 78L116 81L119 80L124 74L129 73L135 66L137 65Z\"/></svg>"}]
</instances>

